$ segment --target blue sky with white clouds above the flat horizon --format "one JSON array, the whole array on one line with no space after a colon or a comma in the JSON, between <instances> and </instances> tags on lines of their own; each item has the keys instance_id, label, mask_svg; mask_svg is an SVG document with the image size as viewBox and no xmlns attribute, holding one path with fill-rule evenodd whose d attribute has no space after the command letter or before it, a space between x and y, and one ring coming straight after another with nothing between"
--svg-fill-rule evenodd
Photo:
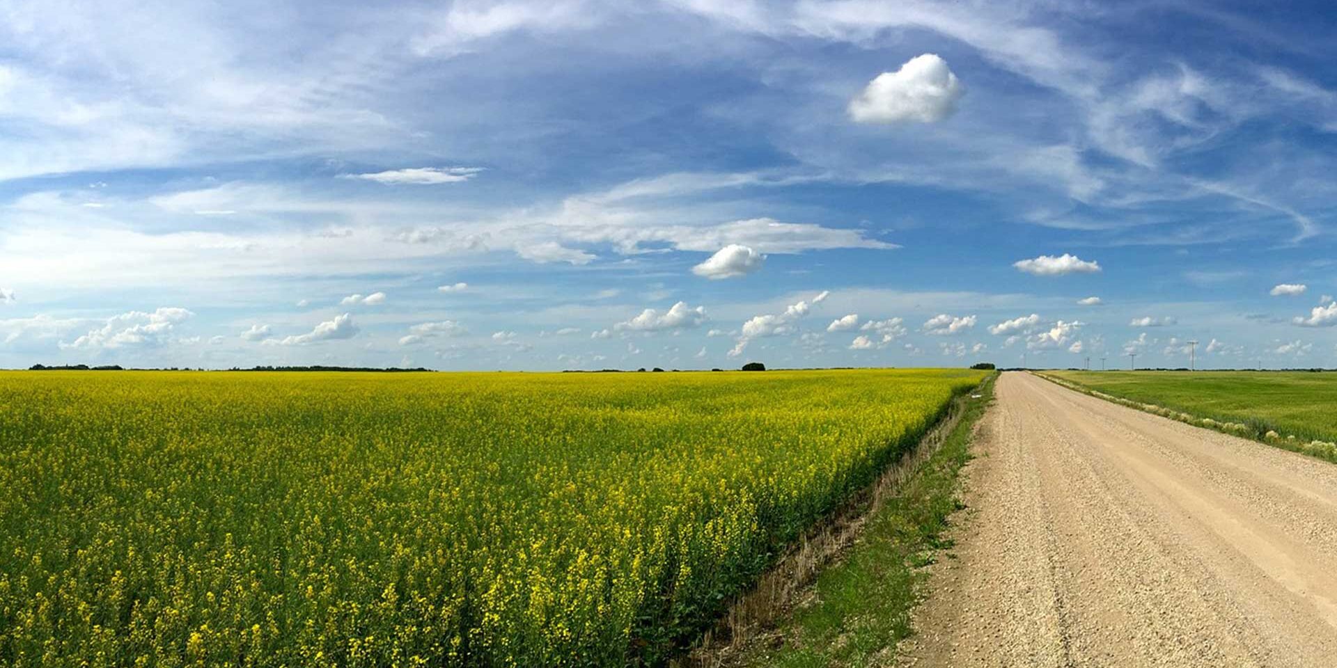
<instances>
[{"instance_id":1,"label":"blue sky with white clouds above the flat horizon","mask_svg":"<svg viewBox=\"0 0 1337 668\"><path fill-rule=\"evenodd\" d=\"M0 366L1334 366L1334 31L11 1Z\"/></svg>"}]
</instances>

